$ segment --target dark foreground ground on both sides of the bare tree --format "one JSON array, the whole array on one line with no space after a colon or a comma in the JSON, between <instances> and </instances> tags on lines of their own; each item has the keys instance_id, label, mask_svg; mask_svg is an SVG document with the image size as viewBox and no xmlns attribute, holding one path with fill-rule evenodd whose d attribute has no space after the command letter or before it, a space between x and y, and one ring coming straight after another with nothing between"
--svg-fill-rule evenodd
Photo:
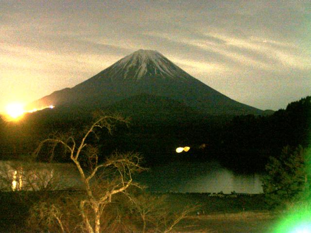
<instances>
[{"instance_id":1,"label":"dark foreground ground on both sides of the bare tree","mask_svg":"<svg viewBox=\"0 0 311 233\"><path fill-rule=\"evenodd\" d=\"M190 205L199 206L196 212L191 213L179 224L177 232L272 233L276 222L276 216L267 210L262 195L164 195L167 196L167 204L172 211ZM17 193L0 193L0 233L24 232L28 208L29 203L21 200Z\"/></svg>"}]
</instances>

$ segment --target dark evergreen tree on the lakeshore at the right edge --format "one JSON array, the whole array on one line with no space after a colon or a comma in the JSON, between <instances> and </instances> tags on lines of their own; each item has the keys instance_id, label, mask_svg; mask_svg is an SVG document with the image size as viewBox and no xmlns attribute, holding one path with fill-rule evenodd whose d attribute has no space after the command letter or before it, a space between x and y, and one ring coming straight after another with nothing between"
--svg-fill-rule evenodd
<instances>
[{"instance_id":1,"label":"dark evergreen tree on the lakeshore at the right edge","mask_svg":"<svg viewBox=\"0 0 311 233\"><path fill-rule=\"evenodd\" d=\"M272 208L290 208L310 197L310 156L302 146L283 148L279 158L270 157L263 178L263 192Z\"/></svg>"}]
</instances>

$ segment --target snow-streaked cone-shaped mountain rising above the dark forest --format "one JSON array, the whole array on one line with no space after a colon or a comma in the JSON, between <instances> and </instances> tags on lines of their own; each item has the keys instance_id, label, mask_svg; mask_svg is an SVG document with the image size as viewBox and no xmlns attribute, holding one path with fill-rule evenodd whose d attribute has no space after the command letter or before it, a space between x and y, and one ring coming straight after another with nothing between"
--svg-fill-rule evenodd
<instances>
[{"instance_id":1,"label":"snow-streaked cone-shaped mountain rising above the dark forest","mask_svg":"<svg viewBox=\"0 0 311 233\"><path fill-rule=\"evenodd\" d=\"M143 101L143 103L141 103ZM151 106L155 104L154 106ZM261 115L262 110L232 100L192 77L154 50L138 50L85 82L53 92L28 107L55 105L71 109L188 109L204 115ZM118 107L117 107L118 106ZM134 106L134 107L133 107ZM190 111L191 110L191 111ZM173 111L173 110L172 110Z\"/></svg>"}]
</instances>

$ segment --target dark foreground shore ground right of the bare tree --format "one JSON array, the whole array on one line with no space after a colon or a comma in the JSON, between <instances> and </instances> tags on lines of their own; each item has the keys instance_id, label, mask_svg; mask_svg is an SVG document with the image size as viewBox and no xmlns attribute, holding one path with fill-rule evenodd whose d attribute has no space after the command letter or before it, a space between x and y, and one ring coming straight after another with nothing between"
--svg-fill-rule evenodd
<instances>
[{"instance_id":1,"label":"dark foreground shore ground right of the bare tree","mask_svg":"<svg viewBox=\"0 0 311 233\"><path fill-rule=\"evenodd\" d=\"M179 225L178 232L183 233L272 233L277 221L263 195L171 193L167 200L172 209L199 205L198 212Z\"/></svg>"}]
</instances>

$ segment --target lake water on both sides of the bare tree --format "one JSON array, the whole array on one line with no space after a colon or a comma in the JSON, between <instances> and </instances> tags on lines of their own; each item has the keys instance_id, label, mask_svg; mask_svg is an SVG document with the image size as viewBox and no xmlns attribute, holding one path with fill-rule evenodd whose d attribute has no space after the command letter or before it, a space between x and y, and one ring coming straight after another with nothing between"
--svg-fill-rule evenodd
<instances>
[{"instance_id":1,"label":"lake water on both sides of the bare tree","mask_svg":"<svg viewBox=\"0 0 311 233\"><path fill-rule=\"evenodd\" d=\"M13 190L35 190L51 183L54 189L82 187L73 164L0 161L0 177L8 178L7 187ZM217 162L168 163L136 175L135 180L152 192L262 193L260 175L238 175Z\"/></svg>"}]
</instances>

